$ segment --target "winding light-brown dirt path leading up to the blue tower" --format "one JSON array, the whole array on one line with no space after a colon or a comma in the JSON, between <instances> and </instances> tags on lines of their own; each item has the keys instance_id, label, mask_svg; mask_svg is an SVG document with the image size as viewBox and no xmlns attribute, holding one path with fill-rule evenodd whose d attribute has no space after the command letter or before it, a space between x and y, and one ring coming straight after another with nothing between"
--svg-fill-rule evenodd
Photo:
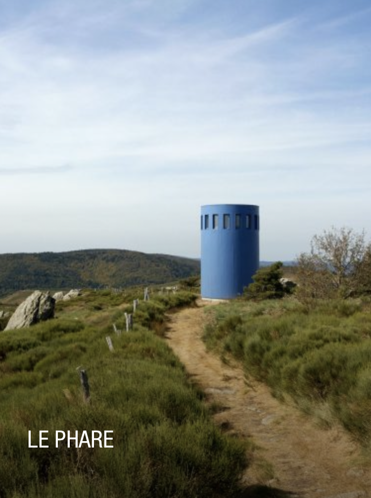
<instances>
[{"instance_id":1,"label":"winding light-brown dirt path leading up to the blue tower","mask_svg":"<svg viewBox=\"0 0 371 498\"><path fill-rule=\"evenodd\" d=\"M239 437L252 437L258 446L244 476L247 487L264 484L303 498L371 498L371 469L362 465L356 445L341 428L315 426L279 403L264 384L247 381L242 369L207 352L201 340L202 307L169 318L169 345L208 400L223 407L215 422Z\"/></svg>"}]
</instances>

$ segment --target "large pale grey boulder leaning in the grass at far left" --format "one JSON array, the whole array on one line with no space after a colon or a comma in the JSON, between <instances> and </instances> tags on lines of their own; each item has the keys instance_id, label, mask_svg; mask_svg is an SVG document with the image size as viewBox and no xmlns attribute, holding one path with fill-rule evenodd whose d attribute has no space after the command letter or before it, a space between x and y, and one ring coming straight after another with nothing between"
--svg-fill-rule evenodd
<instances>
[{"instance_id":1,"label":"large pale grey boulder leaning in the grass at far left","mask_svg":"<svg viewBox=\"0 0 371 498\"><path fill-rule=\"evenodd\" d=\"M54 316L55 299L49 292L35 290L11 315L5 330L21 329Z\"/></svg>"}]
</instances>

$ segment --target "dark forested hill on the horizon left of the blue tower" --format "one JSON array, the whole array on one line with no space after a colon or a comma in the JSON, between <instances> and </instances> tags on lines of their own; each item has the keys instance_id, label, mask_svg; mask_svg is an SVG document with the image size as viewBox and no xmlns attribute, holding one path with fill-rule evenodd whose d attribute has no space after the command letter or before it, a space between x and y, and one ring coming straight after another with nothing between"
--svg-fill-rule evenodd
<instances>
[{"instance_id":1,"label":"dark forested hill on the horizon left of the blue tower","mask_svg":"<svg viewBox=\"0 0 371 498\"><path fill-rule=\"evenodd\" d=\"M156 284L199 271L195 259L120 249L0 254L0 294L36 288Z\"/></svg>"}]
</instances>

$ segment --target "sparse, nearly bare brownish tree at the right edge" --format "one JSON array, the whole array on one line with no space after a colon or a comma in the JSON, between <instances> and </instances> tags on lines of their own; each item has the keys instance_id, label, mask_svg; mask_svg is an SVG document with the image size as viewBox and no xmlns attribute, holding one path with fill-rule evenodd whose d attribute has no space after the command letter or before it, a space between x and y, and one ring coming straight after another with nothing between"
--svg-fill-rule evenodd
<instances>
[{"instance_id":1,"label":"sparse, nearly bare brownish tree at the right edge","mask_svg":"<svg viewBox=\"0 0 371 498\"><path fill-rule=\"evenodd\" d=\"M365 233L333 227L312 238L310 253L298 256L296 293L301 300L346 298L371 287L367 274L371 276L371 249Z\"/></svg>"}]
</instances>

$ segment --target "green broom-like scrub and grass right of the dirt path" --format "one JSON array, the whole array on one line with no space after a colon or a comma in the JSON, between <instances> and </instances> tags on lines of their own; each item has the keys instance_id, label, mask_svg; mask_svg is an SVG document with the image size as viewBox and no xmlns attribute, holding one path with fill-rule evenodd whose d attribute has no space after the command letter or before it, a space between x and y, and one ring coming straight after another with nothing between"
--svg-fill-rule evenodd
<instances>
[{"instance_id":1,"label":"green broom-like scrub and grass right of the dirt path","mask_svg":"<svg viewBox=\"0 0 371 498\"><path fill-rule=\"evenodd\" d=\"M324 425L340 422L371 449L371 307L361 300L234 301L213 307L209 348L243 363L274 395L288 397Z\"/></svg>"}]
</instances>

